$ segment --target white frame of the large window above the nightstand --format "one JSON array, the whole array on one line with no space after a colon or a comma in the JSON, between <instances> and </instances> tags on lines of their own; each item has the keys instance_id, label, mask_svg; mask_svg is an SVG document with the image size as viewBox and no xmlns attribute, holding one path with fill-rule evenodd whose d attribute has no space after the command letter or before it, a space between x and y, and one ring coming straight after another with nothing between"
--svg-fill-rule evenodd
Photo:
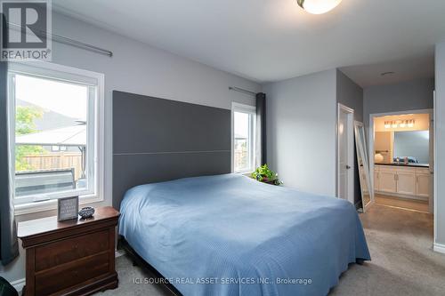
<instances>
[{"instance_id":1,"label":"white frame of the large window above the nightstand","mask_svg":"<svg viewBox=\"0 0 445 296\"><path fill-rule=\"evenodd\" d=\"M88 71L79 68L62 66L44 61L34 62L10 62L8 64L8 118L9 118L9 143L12 145L10 151L10 172L11 176L15 175L15 95L13 93L12 76L14 74L22 74L27 76L40 76L47 79L57 81L65 81L70 84L90 85L95 88L95 100L89 102L93 106L89 106L89 110L93 108L94 113L88 114L87 121L93 122L91 127L93 132L87 132L90 139L87 143L88 150L94 151L93 156L87 156L86 170L93 170L93 186L85 190L70 190L67 192L56 192L53 194L45 194L37 196L27 196L27 200L23 203L14 198L15 214L28 214L32 212L44 212L57 209L57 199L65 196L79 196L80 204L91 204L104 200L104 81L105 76L101 73ZM93 91L93 87L90 88ZM92 148L93 146L93 148ZM14 178L12 178L13 180ZM15 186L13 186L15 190ZM31 201L30 198L33 200Z\"/></svg>"}]
</instances>

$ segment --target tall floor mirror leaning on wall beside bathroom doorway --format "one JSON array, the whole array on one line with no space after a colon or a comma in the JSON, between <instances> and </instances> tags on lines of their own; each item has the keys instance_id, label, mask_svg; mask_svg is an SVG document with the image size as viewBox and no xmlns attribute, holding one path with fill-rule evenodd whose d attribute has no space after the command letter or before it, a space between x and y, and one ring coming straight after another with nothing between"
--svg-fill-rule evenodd
<instances>
[{"instance_id":1,"label":"tall floor mirror leaning on wall beside bathroom doorway","mask_svg":"<svg viewBox=\"0 0 445 296\"><path fill-rule=\"evenodd\" d=\"M355 148L357 149L357 164L360 175L361 203L363 212L374 203L374 191L371 187L369 157L365 138L365 128L360 122L354 123Z\"/></svg>"}]
</instances>

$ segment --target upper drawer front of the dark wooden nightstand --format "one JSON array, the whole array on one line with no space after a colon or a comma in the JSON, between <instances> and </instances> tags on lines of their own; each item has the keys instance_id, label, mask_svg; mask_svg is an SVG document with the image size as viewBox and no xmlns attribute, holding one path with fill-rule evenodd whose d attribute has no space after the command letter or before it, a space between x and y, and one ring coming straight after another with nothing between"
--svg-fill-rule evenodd
<instances>
[{"instance_id":1,"label":"upper drawer front of the dark wooden nightstand","mask_svg":"<svg viewBox=\"0 0 445 296\"><path fill-rule=\"evenodd\" d=\"M44 244L36 247L36 271L53 268L63 263L91 256L108 249L108 230Z\"/></svg>"}]
</instances>

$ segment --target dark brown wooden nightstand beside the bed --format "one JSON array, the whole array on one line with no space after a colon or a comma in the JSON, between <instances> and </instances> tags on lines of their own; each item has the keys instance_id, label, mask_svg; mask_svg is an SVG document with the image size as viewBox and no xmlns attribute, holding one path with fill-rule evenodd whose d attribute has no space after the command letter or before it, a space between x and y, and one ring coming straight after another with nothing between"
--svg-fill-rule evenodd
<instances>
[{"instance_id":1,"label":"dark brown wooden nightstand beside the bed","mask_svg":"<svg viewBox=\"0 0 445 296\"><path fill-rule=\"evenodd\" d=\"M115 289L115 240L119 212L96 209L90 220L57 217L20 222L26 250L24 295L89 295Z\"/></svg>"}]
</instances>

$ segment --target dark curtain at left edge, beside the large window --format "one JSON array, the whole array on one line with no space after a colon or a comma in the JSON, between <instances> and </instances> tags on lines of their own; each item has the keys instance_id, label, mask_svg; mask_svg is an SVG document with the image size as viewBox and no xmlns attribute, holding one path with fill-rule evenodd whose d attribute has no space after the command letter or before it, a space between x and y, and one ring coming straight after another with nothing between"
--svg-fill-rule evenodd
<instances>
[{"instance_id":1,"label":"dark curtain at left edge, beside the large window","mask_svg":"<svg viewBox=\"0 0 445 296\"><path fill-rule=\"evenodd\" d=\"M9 172L7 63L0 62L0 260L7 265L19 255Z\"/></svg>"}]
</instances>

